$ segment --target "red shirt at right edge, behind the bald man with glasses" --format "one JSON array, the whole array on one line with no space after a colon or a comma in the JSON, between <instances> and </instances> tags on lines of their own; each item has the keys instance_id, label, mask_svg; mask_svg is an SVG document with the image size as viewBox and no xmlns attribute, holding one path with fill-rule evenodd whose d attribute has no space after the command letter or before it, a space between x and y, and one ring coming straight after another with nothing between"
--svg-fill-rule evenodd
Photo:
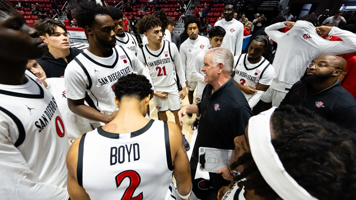
<instances>
[{"instance_id":1,"label":"red shirt at right edge, behind the bald man with glasses","mask_svg":"<svg viewBox=\"0 0 356 200\"><path fill-rule=\"evenodd\" d=\"M356 98L356 56L348 60L345 72L348 75L344 78L341 85Z\"/></svg>"}]
</instances>

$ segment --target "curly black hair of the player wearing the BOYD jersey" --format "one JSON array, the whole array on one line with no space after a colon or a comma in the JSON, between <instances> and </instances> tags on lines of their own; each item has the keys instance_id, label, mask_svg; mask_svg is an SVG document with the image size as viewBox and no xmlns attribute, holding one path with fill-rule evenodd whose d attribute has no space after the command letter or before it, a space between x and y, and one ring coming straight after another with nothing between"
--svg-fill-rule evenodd
<instances>
[{"instance_id":1,"label":"curly black hair of the player wearing the BOYD jersey","mask_svg":"<svg viewBox=\"0 0 356 200\"><path fill-rule=\"evenodd\" d=\"M117 80L113 91L119 101L123 97L136 98L141 101L152 94L152 85L145 76L131 73Z\"/></svg>"}]
</instances>

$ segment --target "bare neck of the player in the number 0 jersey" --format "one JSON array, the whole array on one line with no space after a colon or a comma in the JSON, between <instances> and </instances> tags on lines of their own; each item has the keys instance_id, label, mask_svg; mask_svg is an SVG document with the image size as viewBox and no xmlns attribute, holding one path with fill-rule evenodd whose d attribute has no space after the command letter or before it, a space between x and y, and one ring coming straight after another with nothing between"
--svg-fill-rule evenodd
<instances>
[{"instance_id":1,"label":"bare neck of the player in the number 0 jersey","mask_svg":"<svg viewBox=\"0 0 356 200\"><path fill-rule=\"evenodd\" d=\"M28 80L25 77L25 71L28 60L11 63L1 61L0 84L4 85L22 85Z\"/></svg>"}]
</instances>

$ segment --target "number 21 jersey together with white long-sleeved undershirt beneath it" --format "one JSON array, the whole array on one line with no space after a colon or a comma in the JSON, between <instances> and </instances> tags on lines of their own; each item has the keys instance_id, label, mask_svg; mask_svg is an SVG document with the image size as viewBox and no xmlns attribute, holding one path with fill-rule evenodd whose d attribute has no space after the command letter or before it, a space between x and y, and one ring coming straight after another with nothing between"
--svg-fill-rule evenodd
<instances>
[{"instance_id":1,"label":"number 21 jersey together with white long-sleeved undershirt beneath it","mask_svg":"<svg viewBox=\"0 0 356 200\"><path fill-rule=\"evenodd\" d=\"M152 51L144 45L137 53L137 58L147 65L153 86L157 91L177 91L176 70L182 87L185 87L185 75L175 43L162 41L162 48Z\"/></svg>"}]
</instances>

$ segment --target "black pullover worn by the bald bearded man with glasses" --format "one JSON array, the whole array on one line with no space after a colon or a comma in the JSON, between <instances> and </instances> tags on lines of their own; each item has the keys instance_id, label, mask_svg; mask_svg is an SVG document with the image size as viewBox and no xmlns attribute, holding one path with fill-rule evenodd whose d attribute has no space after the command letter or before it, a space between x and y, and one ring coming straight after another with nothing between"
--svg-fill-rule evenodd
<instances>
[{"instance_id":1,"label":"black pullover worn by the bald bearded man with glasses","mask_svg":"<svg viewBox=\"0 0 356 200\"><path fill-rule=\"evenodd\" d=\"M319 92L313 92L311 85L298 81L280 106L286 104L306 107L326 120L356 130L356 100L338 80Z\"/></svg>"}]
</instances>

